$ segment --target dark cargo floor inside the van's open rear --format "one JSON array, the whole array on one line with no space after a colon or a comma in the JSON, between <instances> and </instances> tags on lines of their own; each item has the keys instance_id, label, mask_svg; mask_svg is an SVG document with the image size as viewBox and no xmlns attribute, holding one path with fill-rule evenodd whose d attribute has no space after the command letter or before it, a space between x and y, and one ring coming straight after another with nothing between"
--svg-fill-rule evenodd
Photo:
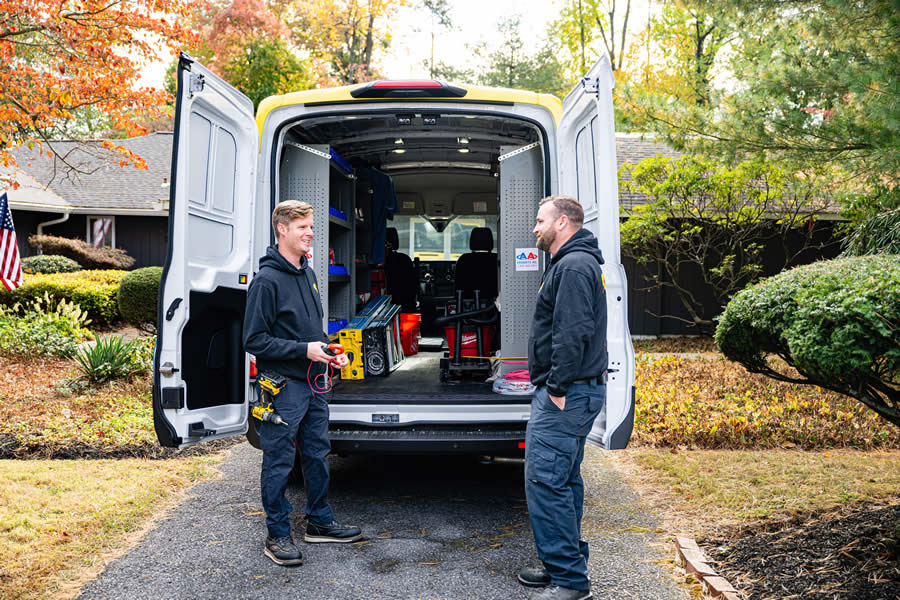
<instances>
[{"instance_id":1,"label":"dark cargo floor inside the van's open rear","mask_svg":"<svg viewBox=\"0 0 900 600\"><path fill-rule=\"evenodd\" d=\"M393 404L442 404L448 399L454 402L509 402L508 397L493 392L491 382L484 381L488 377L487 372L470 379L441 382L440 360L443 356L443 352L419 352L407 356L386 377L335 381L334 395L330 402L370 404L375 400Z\"/></svg>"}]
</instances>

